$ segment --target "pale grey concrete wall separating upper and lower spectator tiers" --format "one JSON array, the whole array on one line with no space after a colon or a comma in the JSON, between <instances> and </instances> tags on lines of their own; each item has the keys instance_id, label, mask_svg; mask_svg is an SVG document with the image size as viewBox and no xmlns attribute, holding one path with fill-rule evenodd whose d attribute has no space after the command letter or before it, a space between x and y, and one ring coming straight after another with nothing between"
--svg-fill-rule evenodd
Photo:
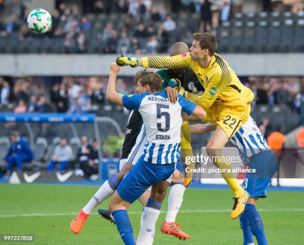
<instances>
[{"instance_id":1,"label":"pale grey concrete wall separating upper and lower spectator tiers","mask_svg":"<svg viewBox=\"0 0 304 245\"><path fill-rule=\"evenodd\" d=\"M304 54L223 54L238 76L304 76ZM0 76L108 75L115 55L1 55ZM142 68L125 67L123 76Z\"/></svg>"}]
</instances>

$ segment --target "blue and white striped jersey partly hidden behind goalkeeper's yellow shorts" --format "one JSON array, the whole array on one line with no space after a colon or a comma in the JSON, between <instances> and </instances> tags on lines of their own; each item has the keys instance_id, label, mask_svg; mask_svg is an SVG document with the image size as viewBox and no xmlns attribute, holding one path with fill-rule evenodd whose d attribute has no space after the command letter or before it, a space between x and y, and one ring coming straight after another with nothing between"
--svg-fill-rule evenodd
<instances>
[{"instance_id":1,"label":"blue and white striped jersey partly hidden behind goalkeeper's yellow shorts","mask_svg":"<svg viewBox=\"0 0 304 245\"><path fill-rule=\"evenodd\" d=\"M270 149L259 127L250 116L247 122L230 138L230 142L238 149L245 164L249 157Z\"/></svg>"}]
</instances>

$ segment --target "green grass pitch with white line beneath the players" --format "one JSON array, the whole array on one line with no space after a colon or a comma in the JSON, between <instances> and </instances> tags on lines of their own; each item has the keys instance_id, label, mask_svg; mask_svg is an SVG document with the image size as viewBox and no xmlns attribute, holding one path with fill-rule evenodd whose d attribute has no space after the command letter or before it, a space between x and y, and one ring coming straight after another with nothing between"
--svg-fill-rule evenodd
<instances>
[{"instance_id":1,"label":"green grass pitch with white line beneath the players","mask_svg":"<svg viewBox=\"0 0 304 245\"><path fill-rule=\"evenodd\" d=\"M101 219L96 210L80 234L69 225L98 186L89 185L0 185L0 234L34 235L41 245L121 245L116 226ZM108 200L100 205L106 208ZM242 245L239 221L231 220L232 196L228 189L187 189L177 216L180 228L190 235L180 241L161 234L167 200L162 205L155 234L155 245ZM140 228L142 206L130 208L135 239ZM304 193L269 191L259 200L258 209L264 221L269 245L304 244ZM28 214L40 214L28 216ZM24 216L22 216L24 215ZM15 243L9 243L15 244ZM19 244L19 243L18 243ZM257 245L257 243L255 242Z\"/></svg>"}]
</instances>

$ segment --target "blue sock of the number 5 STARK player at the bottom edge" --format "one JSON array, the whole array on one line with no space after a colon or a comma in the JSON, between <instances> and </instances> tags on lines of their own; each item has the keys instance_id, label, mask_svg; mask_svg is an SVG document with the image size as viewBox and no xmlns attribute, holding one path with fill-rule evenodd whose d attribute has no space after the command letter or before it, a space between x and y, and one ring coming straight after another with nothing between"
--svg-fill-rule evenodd
<instances>
[{"instance_id":1,"label":"blue sock of the number 5 STARK player at the bottom edge","mask_svg":"<svg viewBox=\"0 0 304 245\"><path fill-rule=\"evenodd\" d=\"M115 210L112 212L117 230L125 245L135 245L133 228L127 210Z\"/></svg>"}]
</instances>

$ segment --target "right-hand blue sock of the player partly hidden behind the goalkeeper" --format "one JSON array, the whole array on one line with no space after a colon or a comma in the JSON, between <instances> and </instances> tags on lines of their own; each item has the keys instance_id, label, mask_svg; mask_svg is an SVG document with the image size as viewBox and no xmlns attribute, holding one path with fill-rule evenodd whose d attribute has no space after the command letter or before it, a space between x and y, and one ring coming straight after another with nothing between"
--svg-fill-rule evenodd
<instances>
[{"instance_id":1,"label":"right-hand blue sock of the player partly hidden behind the goalkeeper","mask_svg":"<svg viewBox=\"0 0 304 245\"><path fill-rule=\"evenodd\" d=\"M247 203L244 214L249 221L252 234L255 236L259 245L267 245L262 218L254 204Z\"/></svg>"}]
</instances>

